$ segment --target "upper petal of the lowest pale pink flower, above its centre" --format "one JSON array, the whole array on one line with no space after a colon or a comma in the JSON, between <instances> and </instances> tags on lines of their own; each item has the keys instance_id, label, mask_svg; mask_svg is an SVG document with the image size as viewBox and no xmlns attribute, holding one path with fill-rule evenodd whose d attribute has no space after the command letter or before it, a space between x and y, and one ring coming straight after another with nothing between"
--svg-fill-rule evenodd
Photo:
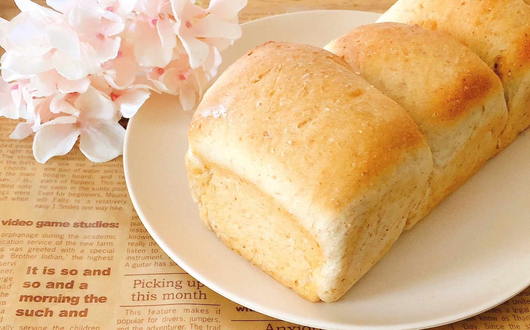
<instances>
[{"instance_id":1,"label":"upper petal of the lowest pale pink flower, above its centre","mask_svg":"<svg viewBox=\"0 0 530 330\"><path fill-rule=\"evenodd\" d=\"M74 102L74 107L81 111L79 118L82 122L92 119L113 121L118 114L118 106L107 95L92 86L79 95Z\"/></svg>"}]
</instances>

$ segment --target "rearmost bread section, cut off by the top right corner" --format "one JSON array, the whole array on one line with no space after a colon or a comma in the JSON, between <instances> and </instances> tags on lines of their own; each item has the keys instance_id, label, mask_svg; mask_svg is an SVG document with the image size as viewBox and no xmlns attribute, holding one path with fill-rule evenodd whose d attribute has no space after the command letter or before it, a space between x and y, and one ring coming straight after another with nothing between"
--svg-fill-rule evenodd
<instances>
[{"instance_id":1,"label":"rearmost bread section, cut off by the top right corner","mask_svg":"<svg viewBox=\"0 0 530 330\"><path fill-rule=\"evenodd\" d=\"M523 0L398 0L377 22L448 33L497 73L508 103L499 150L530 125L530 6Z\"/></svg>"}]
</instances>

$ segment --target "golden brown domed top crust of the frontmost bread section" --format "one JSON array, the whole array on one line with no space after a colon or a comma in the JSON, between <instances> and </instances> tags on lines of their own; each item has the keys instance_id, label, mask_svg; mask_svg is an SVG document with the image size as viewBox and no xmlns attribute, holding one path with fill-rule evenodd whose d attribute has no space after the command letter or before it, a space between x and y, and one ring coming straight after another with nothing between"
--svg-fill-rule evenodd
<instances>
[{"instance_id":1,"label":"golden brown domed top crust of the frontmost bread section","mask_svg":"<svg viewBox=\"0 0 530 330\"><path fill-rule=\"evenodd\" d=\"M286 98L287 88L302 92ZM244 99L234 96L238 94ZM313 96L321 94L326 99ZM263 161L289 164L292 180L312 183L308 188L315 202L341 212L358 194L348 187L369 185L403 149L424 143L399 105L374 94L379 92L328 51L268 42L238 59L208 90L191 121L189 138L191 142L205 132L218 133L237 139L238 149L259 154ZM227 109L223 118L204 116L219 105ZM281 107L295 105L295 111L279 116ZM346 118L350 125L345 127ZM337 152L356 157L335 157ZM299 167L301 163L310 168Z\"/></svg>"}]
</instances>

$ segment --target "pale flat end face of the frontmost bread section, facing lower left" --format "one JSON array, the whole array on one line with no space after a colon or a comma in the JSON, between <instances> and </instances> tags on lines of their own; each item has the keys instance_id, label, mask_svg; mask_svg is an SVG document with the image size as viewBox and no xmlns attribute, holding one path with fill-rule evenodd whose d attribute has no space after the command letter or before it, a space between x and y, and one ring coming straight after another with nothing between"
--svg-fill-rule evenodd
<instances>
[{"instance_id":1,"label":"pale flat end face of the frontmost bread section, facing lower left","mask_svg":"<svg viewBox=\"0 0 530 330\"><path fill-rule=\"evenodd\" d=\"M322 250L292 215L257 187L188 152L190 186L201 219L223 242L300 296L319 301Z\"/></svg>"}]
</instances>

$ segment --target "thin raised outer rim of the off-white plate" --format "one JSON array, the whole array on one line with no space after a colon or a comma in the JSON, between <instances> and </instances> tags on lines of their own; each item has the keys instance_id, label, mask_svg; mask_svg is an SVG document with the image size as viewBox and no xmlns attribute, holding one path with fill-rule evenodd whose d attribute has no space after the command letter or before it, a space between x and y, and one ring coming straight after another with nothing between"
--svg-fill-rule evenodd
<instances>
[{"instance_id":1,"label":"thin raised outer rim of the off-white plate","mask_svg":"<svg viewBox=\"0 0 530 330\"><path fill-rule=\"evenodd\" d=\"M248 21L248 22L242 23L240 25L242 27L244 27L246 25L252 25L252 24L255 24L257 22L274 20L274 19L277 19L278 17L297 16L297 15L303 15L303 14L306 14L306 13L318 13L318 12L326 12L326 13L329 13L329 12L337 12L337 13L348 12L348 13L357 13L357 14L361 14L361 15L362 14L378 14L378 15L381 15L381 13L370 12L370 11L358 11L358 10L305 10L305 11L288 12L288 13L281 13L281 14L277 14L277 15L266 16L266 17L263 17L263 18L259 18L259 19L256 19L256 20L252 20L252 21ZM220 74L222 74L222 73L219 72L218 75L216 76L216 78L219 77ZM136 119L136 116L134 116L134 117L130 118L130 121L129 121L128 125L131 126L131 127L135 127L136 121L138 121L138 120L139 119ZM135 208L140 220L142 221L144 227L148 231L149 235L151 235L151 237L155 240L155 242L158 244L158 246L160 246L162 248L164 253L166 253L172 260L174 260L175 263L178 264L178 266L180 266L189 275L191 275L195 279L199 280L200 282L204 283L205 285L206 285L206 283L208 283L208 285L206 285L206 286L209 289L213 290L214 292L220 294L220 296L223 296L226 299L229 299L229 300L231 300L231 301L233 301L235 303L238 303L239 305L242 305L242 306L250 308L250 309L252 309L254 311L260 312L263 315L267 315L267 316L270 316L270 317L278 318L279 321L290 322L290 323L298 324L298 325L301 325L301 326L321 327L322 329L326 328L326 329L330 329L330 330L348 330L348 329L351 329L351 330L420 330L420 329L426 329L426 328L431 328L431 327L438 327L438 326L452 324L452 323L464 320L466 318L481 314L482 312L487 311L487 310L489 310L489 309L491 309L491 308L493 308L495 306L498 306L502 302L507 301L507 300L517 296L518 293L524 291L530 285L530 276L529 276L528 277L528 281L525 282L522 285L522 287L515 289L515 291L511 291L511 292L507 293L506 297L502 298L501 301L498 301L498 299L491 299L488 302L483 302L481 305L477 306L476 308L470 309L470 311L473 310L471 312L471 314L470 314L470 311L467 311L467 312L460 313L460 315L452 315L452 316L447 316L447 317L439 317L437 319L431 319L431 322L427 322L427 321L425 321L425 322L412 322L412 323L407 323L407 324L400 324L399 326L395 326L395 325L385 325L385 326L352 325L352 324L349 324L349 323L348 324L347 323L329 323L329 322L326 322L326 321L323 321L323 322L321 321L322 324L310 324L310 323L303 322L302 320L298 320L296 318L291 318L290 314L282 314L282 312L276 312L275 310L269 310L269 308L264 307L264 306L262 307L258 303L253 303L252 301L249 301L248 299L245 299L243 297L239 297L236 294L232 294L230 291L225 291L224 288L222 288L221 286L216 285L215 283L209 283L208 280L205 281L205 276L201 275L201 273L196 272L193 269L192 266L188 265L184 260L179 258L179 256L176 255L173 252L172 248L169 245L166 244L166 241L163 240L158 235L157 230L155 228L153 228L151 223L149 223L149 221L147 220L147 216L144 214L142 207L139 206L140 202L138 201L138 199L136 197L135 189L131 189L131 185L132 185L130 183L131 182L131 178L130 178L131 173L129 171L129 161L128 161L129 157L130 157L130 155L129 155L129 146L130 146L129 140L130 140L130 137L129 136L131 135L131 133L130 133L131 131L132 131L132 129L127 129L126 135L125 135L125 141L124 141L124 147L123 147L123 169L124 169L124 172L125 172L126 185L127 185L127 189L128 189L128 192L129 192L129 196L130 196L131 202L133 203L133 206L134 206L134 208ZM322 303L322 302L319 302L319 303ZM325 324L323 324L323 323L325 323ZM329 325L329 327L328 327L328 325Z\"/></svg>"}]
</instances>

